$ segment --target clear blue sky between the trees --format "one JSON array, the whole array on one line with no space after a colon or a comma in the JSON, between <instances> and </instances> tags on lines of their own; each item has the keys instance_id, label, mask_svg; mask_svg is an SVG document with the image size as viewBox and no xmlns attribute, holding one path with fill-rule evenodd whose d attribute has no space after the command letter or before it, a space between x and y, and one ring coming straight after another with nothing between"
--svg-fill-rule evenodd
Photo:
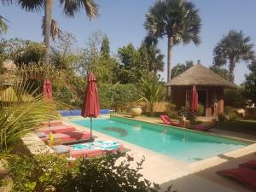
<instances>
[{"instance_id":1,"label":"clear blue sky between the trees","mask_svg":"<svg viewBox=\"0 0 256 192\"><path fill-rule=\"evenodd\" d=\"M101 30L110 39L113 54L119 47L132 43L138 47L146 32L143 28L145 14L154 0L96 0L100 4L101 15L98 19L89 21L84 10L75 18L65 18L61 13L60 0L55 0L53 18L58 21L61 30L71 32L78 39L78 46L83 46L92 32ZM256 43L256 1L255 0L192 0L200 10L202 20L201 44L194 44L174 48L173 63L183 63L187 60L197 61L209 67L212 65L212 49L215 44L230 29L242 30L245 35ZM25 38L32 41L43 41L41 23L43 12L27 13L16 6L0 5L0 15L6 17L9 32L4 38ZM167 52L166 38L160 41L159 47L164 55ZM256 47L254 48L256 51ZM166 61L166 58L165 58ZM248 73L247 64L239 63L236 67L236 84L244 81ZM165 73L162 77L166 79Z\"/></svg>"}]
</instances>

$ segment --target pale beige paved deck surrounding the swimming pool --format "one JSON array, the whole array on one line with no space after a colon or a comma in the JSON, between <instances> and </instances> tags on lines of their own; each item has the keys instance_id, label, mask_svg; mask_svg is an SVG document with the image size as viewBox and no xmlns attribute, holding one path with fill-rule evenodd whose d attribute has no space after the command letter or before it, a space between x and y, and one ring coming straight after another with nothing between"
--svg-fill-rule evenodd
<instances>
[{"instance_id":1,"label":"pale beige paved deck surrounding the swimming pool","mask_svg":"<svg viewBox=\"0 0 256 192\"><path fill-rule=\"evenodd\" d=\"M119 116L131 118L127 115ZM136 119L161 124L160 119L149 119L146 117L138 117ZM63 120L69 125L75 125L78 129L87 129L89 131L89 128L73 124L69 121L71 119L65 118ZM218 131L212 129L211 133L219 136L229 136L256 141L255 136L248 136L231 131ZM207 160L200 160L188 164L179 160L174 160L164 154L158 154L154 151L148 150L147 148L142 148L117 138L107 136L99 131L93 131L93 134L97 137L96 140L111 139L118 141L119 143L123 143L125 148L130 149L127 153L133 156L136 161L141 160L144 156L146 160L143 164L143 176L152 182L160 183L160 186L163 189L166 189L168 186L173 184L172 190L181 192L250 191L242 184L236 183L236 181L229 178L221 177L215 172L237 167L239 164L246 162L247 160L256 159L256 143L225 154L208 158Z\"/></svg>"}]
</instances>

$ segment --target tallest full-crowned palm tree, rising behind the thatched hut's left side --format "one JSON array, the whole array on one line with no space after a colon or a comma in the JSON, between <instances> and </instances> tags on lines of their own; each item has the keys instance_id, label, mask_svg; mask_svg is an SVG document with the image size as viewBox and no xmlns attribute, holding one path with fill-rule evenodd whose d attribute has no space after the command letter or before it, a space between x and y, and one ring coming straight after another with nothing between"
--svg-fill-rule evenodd
<instances>
[{"instance_id":1,"label":"tallest full-crowned palm tree, rising behind the thatched hut's left side","mask_svg":"<svg viewBox=\"0 0 256 192\"><path fill-rule=\"evenodd\" d=\"M158 39L167 37L167 81L172 76L172 48L181 42L200 43L201 18L193 3L183 0L157 0L149 8L144 23L148 31L146 41L157 44Z\"/></svg>"}]
</instances>

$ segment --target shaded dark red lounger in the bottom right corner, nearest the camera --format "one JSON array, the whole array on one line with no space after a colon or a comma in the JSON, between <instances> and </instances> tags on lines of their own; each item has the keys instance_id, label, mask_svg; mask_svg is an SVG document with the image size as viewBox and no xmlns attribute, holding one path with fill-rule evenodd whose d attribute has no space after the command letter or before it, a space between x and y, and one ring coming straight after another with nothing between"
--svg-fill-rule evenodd
<instances>
[{"instance_id":1,"label":"shaded dark red lounger in the bottom right corner, nearest the camera","mask_svg":"<svg viewBox=\"0 0 256 192\"><path fill-rule=\"evenodd\" d=\"M256 191L256 172L246 168L233 168L217 172L219 175L232 177L244 183L248 189Z\"/></svg>"}]
</instances>

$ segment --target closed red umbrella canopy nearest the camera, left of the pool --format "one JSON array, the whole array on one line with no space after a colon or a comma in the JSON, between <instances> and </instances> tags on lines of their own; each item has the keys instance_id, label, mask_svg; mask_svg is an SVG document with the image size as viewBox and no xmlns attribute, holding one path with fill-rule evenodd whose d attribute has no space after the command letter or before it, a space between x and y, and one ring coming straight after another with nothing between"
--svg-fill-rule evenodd
<instances>
[{"instance_id":1,"label":"closed red umbrella canopy nearest the camera, left of the pool","mask_svg":"<svg viewBox=\"0 0 256 192\"><path fill-rule=\"evenodd\" d=\"M96 78L93 73L88 75L88 84L85 91L84 103L82 107L83 117L96 118L100 114L100 104L98 90L96 88Z\"/></svg>"}]
</instances>

